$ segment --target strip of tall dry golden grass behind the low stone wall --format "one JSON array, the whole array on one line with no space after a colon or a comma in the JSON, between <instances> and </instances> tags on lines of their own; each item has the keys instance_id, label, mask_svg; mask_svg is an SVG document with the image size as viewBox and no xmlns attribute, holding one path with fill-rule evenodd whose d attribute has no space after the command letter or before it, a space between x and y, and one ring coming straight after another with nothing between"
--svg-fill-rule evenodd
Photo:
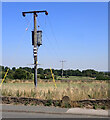
<instances>
[{"instance_id":1,"label":"strip of tall dry golden grass behind the low stone wall","mask_svg":"<svg viewBox=\"0 0 110 120\"><path fill-rule=\"evenodd\" d=\"M38 99L61 100L68 96L72 101L84 99L108 98L108 83L106 81L92 82L38 82L37 89L33 83L3 83L2 96L32 97Z\"/></svg>"}]
</instances>

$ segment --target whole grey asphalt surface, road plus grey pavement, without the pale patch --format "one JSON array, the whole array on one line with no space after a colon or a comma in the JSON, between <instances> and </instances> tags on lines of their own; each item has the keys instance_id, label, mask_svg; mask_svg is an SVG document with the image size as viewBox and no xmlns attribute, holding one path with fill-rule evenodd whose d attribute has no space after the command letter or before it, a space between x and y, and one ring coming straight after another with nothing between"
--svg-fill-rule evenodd
<instances>
[{"instance_id":1,"label":"whole grey asphalt surface, road plus grey pavement, without the pale patch","mask_svg":"<svg viewBox=\"0 0 110 120\"><path fill-rule=\"evenodd\" d=\"M2 105L2 118L106 118L94 115L68 114L67 108Z\"/></svg>"}]
</instances>

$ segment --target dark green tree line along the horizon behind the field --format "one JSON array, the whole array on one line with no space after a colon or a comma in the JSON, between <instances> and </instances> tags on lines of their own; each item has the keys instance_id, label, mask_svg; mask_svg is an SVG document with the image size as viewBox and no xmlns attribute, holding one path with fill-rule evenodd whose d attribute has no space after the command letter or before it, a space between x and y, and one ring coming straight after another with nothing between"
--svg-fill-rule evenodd
<instances>
[{"instance_id":1,"label":"dark green tree line along the horizon behind the field","mask_svg":"<svg viewBox=\"0 0 110 120\"><path fill-rule=\"evenodd\" d=\"M33 68L29 68L29 67L9 68L9 67L4 67L4 66L0 66L1 78L4 77L7 69L9 69L9 72L7 75L7 78L9 79L23 79L23 80L34 79ZM62 69L60 70L52 69L52 71L55 76L55 79L57 79L57 76L61 76L62 74ZM63 70L63 76L66 78L69 76L84 76L84 77L96 78L97 80L110 80L110 72L99 72L93 69L87 69L87 70L82 70L82 71L80 71L79 69ZM38 68L38 78L51 79L52 77L51 77L50 69Z\"/></svg>"}]
</instances>

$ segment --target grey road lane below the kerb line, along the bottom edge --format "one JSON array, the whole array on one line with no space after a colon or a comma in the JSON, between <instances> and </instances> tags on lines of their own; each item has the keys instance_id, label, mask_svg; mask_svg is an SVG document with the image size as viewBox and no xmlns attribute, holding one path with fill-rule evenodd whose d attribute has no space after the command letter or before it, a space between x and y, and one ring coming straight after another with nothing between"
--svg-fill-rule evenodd
<instances>
[{"instance_id":1,"label":"grey road lane below the kerb line, along the bottom edge","mask_svg":"<svg viewBox=\"0 0 110 120\"><path fill-rule=\"evenodd\" d=\"M102 118L88 115L3 112L2 118Z\"/></svg>"}]
</instances>

